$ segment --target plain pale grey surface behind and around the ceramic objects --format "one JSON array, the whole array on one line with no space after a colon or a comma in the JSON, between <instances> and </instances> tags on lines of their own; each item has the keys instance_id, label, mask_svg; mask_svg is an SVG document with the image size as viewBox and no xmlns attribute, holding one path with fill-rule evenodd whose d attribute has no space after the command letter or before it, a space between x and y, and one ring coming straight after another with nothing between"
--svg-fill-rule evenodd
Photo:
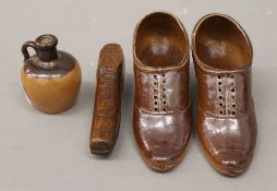
<instances>
[{"instance_id":1,"label":"plain pale grey surface behind and around the ceramic objects","mask_svg":"<svg viewBox=\"0 0 277 191\"><path fill-rule=\"evenodd\" d=\"M217 174L194 134L174 170L157 174L143 163L132 131L132 35L137 21L155 10L174 13L189 35L212 12L232 16L249 34L258 138L253 163L242 176ZM46 33L59 38L58 48L71 52L83 71L75 106L56 116L31 106L20 82L22 44ZM122 45L127 70L118 142L103 158L91 155L88 138L98 52L107 43ZM275 0L0 0L0 191L276 190L276 47ZM191 61L194 104L195 85Z\"/></svg>"}]
</instances>

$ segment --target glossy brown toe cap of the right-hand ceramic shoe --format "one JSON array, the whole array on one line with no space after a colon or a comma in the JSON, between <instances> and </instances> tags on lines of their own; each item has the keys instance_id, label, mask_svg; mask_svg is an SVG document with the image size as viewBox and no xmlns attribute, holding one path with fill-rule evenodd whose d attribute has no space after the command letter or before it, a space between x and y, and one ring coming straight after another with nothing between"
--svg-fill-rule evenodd
<instances>
[{"instance_id":1,"label":"glossy brown toe cap of the right-hand ceramic shoe","mask_svg":"<svg viewBox=\"0 0 277 191\"><path fill-rule=\"evenodd\" d=\"M200 116L202 117L202 116ZM204 153L215 169L227 176L245 171L256 142L253 116L240 118L200 118L197 134Z\"/></svg>"}]
</instances>

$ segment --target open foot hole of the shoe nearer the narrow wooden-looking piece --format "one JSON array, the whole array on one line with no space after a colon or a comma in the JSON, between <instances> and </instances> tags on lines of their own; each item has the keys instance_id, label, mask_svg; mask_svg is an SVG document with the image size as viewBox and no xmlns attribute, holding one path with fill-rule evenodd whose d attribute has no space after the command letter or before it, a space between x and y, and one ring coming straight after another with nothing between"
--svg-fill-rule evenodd
<instances>
[{"instance_id":1,"label":"open foot hole of the shoe nearer the narrow wooden-looking piece","mask_svg":"<svg viewBox=\"0 0 277 191\"><path fill-rule=\"evenodd\" d=\"M177 17L155 12L138 24L134 49L142 64L166 68L183 63L189 53L189 41Z\"/></svg>"}]
</instances>

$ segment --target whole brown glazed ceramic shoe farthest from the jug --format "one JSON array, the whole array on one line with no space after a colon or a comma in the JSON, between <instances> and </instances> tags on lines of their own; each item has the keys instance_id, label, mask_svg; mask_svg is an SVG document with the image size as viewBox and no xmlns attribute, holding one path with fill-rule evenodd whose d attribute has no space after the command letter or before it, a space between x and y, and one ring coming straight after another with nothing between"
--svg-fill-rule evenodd
<instances>
[{"instance_id":1,"label":"whole brown glazed ceramic shoe farthest from the jug","mask_svg":"<svg viewBox=\"0 0 277 191\"><path fill-rule=\"evenodd\" d=\"M239 175L250 165L256 142L251 41L233 19L208 14L193 29L192 51L203 151L219 172Z\"/></svg>"}]
</instances>

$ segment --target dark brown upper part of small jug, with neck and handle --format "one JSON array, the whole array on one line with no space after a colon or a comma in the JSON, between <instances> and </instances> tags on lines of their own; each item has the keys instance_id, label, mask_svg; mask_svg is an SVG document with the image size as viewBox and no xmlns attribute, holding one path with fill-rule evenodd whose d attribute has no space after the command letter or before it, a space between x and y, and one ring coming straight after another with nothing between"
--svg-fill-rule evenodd
<instances>
[{"instance_id":1,"label":"dark brown upper part of small jug, with neck and handle","mask_svg":"<svg viewBox=\"0 0 277 191\"><path fill-rule=\"evenodd\" d=\"M35 41L22 46L26 75L39 79L61 77L73 70L76 60L68 52L57 50L58 39L53 35L41 35ZM36 55L29 57L27 48Z\"/></svg>"}]
</instances>

